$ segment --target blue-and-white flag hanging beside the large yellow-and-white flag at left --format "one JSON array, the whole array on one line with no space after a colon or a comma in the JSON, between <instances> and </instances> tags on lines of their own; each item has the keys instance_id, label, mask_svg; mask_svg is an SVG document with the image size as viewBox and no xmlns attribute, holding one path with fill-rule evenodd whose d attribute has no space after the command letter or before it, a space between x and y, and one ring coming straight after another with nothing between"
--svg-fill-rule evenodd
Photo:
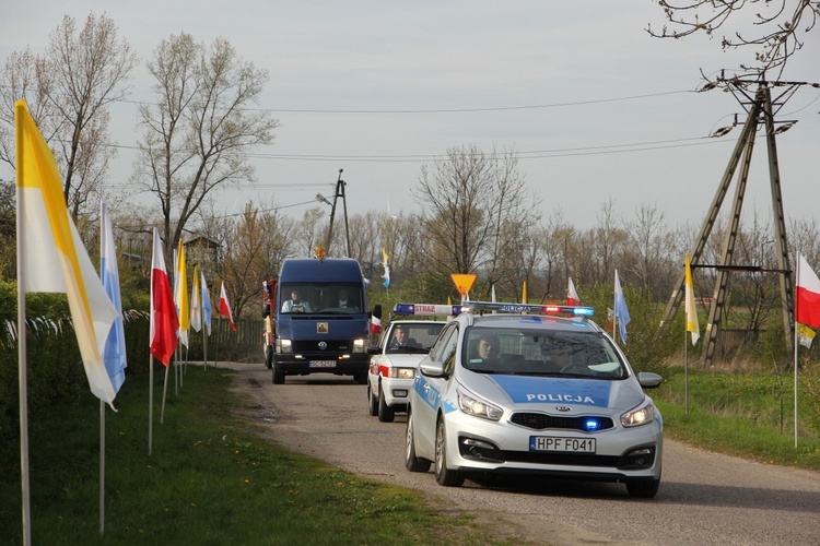
<instances>
[{"instance_id":1,"label":"blue-and-white flag hanging beside the large yellow-and-white flag at left","mask_svg":"<svg viewBox=\"0 0 820 546\"><path fill-rule=\"evenodd\" d=\"M114 245L114 230L108 209L101 203L99 213L99 275L103 287L117 310L117 320L114 322L103 348L103 361L112 380L114 392L126 381L126 368L128 359L126 356L126 331L122 323L122 298L119 294L119 268L117 266L117 248Z\"/></svg>"}]
</instances>

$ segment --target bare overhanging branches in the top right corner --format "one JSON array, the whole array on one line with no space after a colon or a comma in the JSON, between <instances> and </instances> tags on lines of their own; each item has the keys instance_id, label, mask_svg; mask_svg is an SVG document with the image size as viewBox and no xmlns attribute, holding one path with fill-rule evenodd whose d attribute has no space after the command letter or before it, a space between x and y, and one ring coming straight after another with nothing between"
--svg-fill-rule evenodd
<instances>
[{"instance_id":1,"label":"bare overhanging branches in the top right corner","mask_svg":"<svg viewBox=\"0 0 820 546\"><path fill-rule=\"evenodd\" d=\"M805 36L820 15L818 0L658 0L672 27L647 32L660 38L681 38L695 33L712 36L726 29L742 15L751 15L750 27L724 35L723 49L749 47L754 63L745 70L783 73L789 57L803 47ZM751 11L754 10L752 14ZM747 17L747 21L749 19Z\"/></svg>"}]
</instances>

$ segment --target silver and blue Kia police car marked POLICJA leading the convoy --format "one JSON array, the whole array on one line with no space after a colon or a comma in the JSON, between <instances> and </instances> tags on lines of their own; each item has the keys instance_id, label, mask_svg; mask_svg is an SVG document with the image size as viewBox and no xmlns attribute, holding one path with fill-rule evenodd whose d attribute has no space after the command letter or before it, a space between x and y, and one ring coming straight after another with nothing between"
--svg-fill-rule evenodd
<instances>
[{"instance_id":1,"label":"silver and blue Kia police car marked POLICJA leading the convoy","mask_svg":"<svg viewBox=\"0 0 820 546\"><path fill-rule=\"evenodd\" d=\"M656 495L664 426L644 389L661 378L636 375L588 318L591 308L472 302L464 311L419 365L407 418L410 472L434 463L443 486L471 474L531 473Z\"/></svg>"}]
</instances>

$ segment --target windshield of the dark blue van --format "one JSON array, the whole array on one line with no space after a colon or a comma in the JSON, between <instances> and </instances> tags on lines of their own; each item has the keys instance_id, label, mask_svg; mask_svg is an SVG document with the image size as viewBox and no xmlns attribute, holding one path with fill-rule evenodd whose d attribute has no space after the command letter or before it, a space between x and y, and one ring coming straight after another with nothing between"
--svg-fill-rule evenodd
<instances>
[{"instance_id":1,"label":"windshield of the dark blue van","mask_svg":"<svg viewBox=\"0 0 820 546\"><path fill-rule=\"evenodd\" d=\"M361 283L283 283L279 309L284 313L361 313Z\"/></svg>"}]
</instances>

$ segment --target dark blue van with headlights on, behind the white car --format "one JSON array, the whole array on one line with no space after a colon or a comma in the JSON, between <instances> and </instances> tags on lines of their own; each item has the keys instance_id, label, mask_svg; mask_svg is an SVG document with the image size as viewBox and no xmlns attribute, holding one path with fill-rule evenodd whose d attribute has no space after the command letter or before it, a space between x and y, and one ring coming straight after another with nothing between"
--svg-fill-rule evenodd
<instances>
[{"instance_id":1,"label":"dark blue van with headlights on, behind the white car","mask_svg":"<svg viewBox=\"0 0 820 546\"><path fill-rule=\"evenodd\" d=\"M318 372L367 382L371 313L358 261L285 260L272 307L273 383Z\"/></svg>"}]
</instances>

